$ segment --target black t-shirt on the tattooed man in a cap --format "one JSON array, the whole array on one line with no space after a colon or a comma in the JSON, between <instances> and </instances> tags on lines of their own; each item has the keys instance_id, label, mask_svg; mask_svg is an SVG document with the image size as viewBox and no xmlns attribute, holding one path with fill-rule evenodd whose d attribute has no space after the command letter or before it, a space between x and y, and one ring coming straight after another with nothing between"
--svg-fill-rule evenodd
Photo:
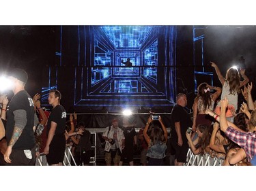
<instances>
[{"instance_id":1,"label":"black t-shirt on the tattooed man in a cap","mask_svg":"<svg viewBox=\"0 0 256 191\"><path fill-rule=\"evenodd\" d=\"M16 93L10 101L9 109L7 111L6 140L9 143L12 138L15 125L14 111L20 109L26 111L27 124L12 148L17 150L29 150L35 145L35 135L33 133L35 109L33 100L25 90Z\"/></svg>"}]
</instances>

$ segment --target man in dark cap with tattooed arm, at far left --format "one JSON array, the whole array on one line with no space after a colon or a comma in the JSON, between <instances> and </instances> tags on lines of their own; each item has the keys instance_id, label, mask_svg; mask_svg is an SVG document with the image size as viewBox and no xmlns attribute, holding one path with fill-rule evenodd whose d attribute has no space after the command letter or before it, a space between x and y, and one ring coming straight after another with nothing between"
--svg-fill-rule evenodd
<instances>
[{"instance_id":1,"label":"man in dark cap with tattooed arm, at far left","mask_svg":"<svg viewBox=\"0 0 256 191\"><path fill-rule=\"evenodd\" d=\"M35 165L35 114L33 100L25 90L28 75L23 69L9 74L14 96L7 112L5 165Z\"/></svg>"}]
</instances>

